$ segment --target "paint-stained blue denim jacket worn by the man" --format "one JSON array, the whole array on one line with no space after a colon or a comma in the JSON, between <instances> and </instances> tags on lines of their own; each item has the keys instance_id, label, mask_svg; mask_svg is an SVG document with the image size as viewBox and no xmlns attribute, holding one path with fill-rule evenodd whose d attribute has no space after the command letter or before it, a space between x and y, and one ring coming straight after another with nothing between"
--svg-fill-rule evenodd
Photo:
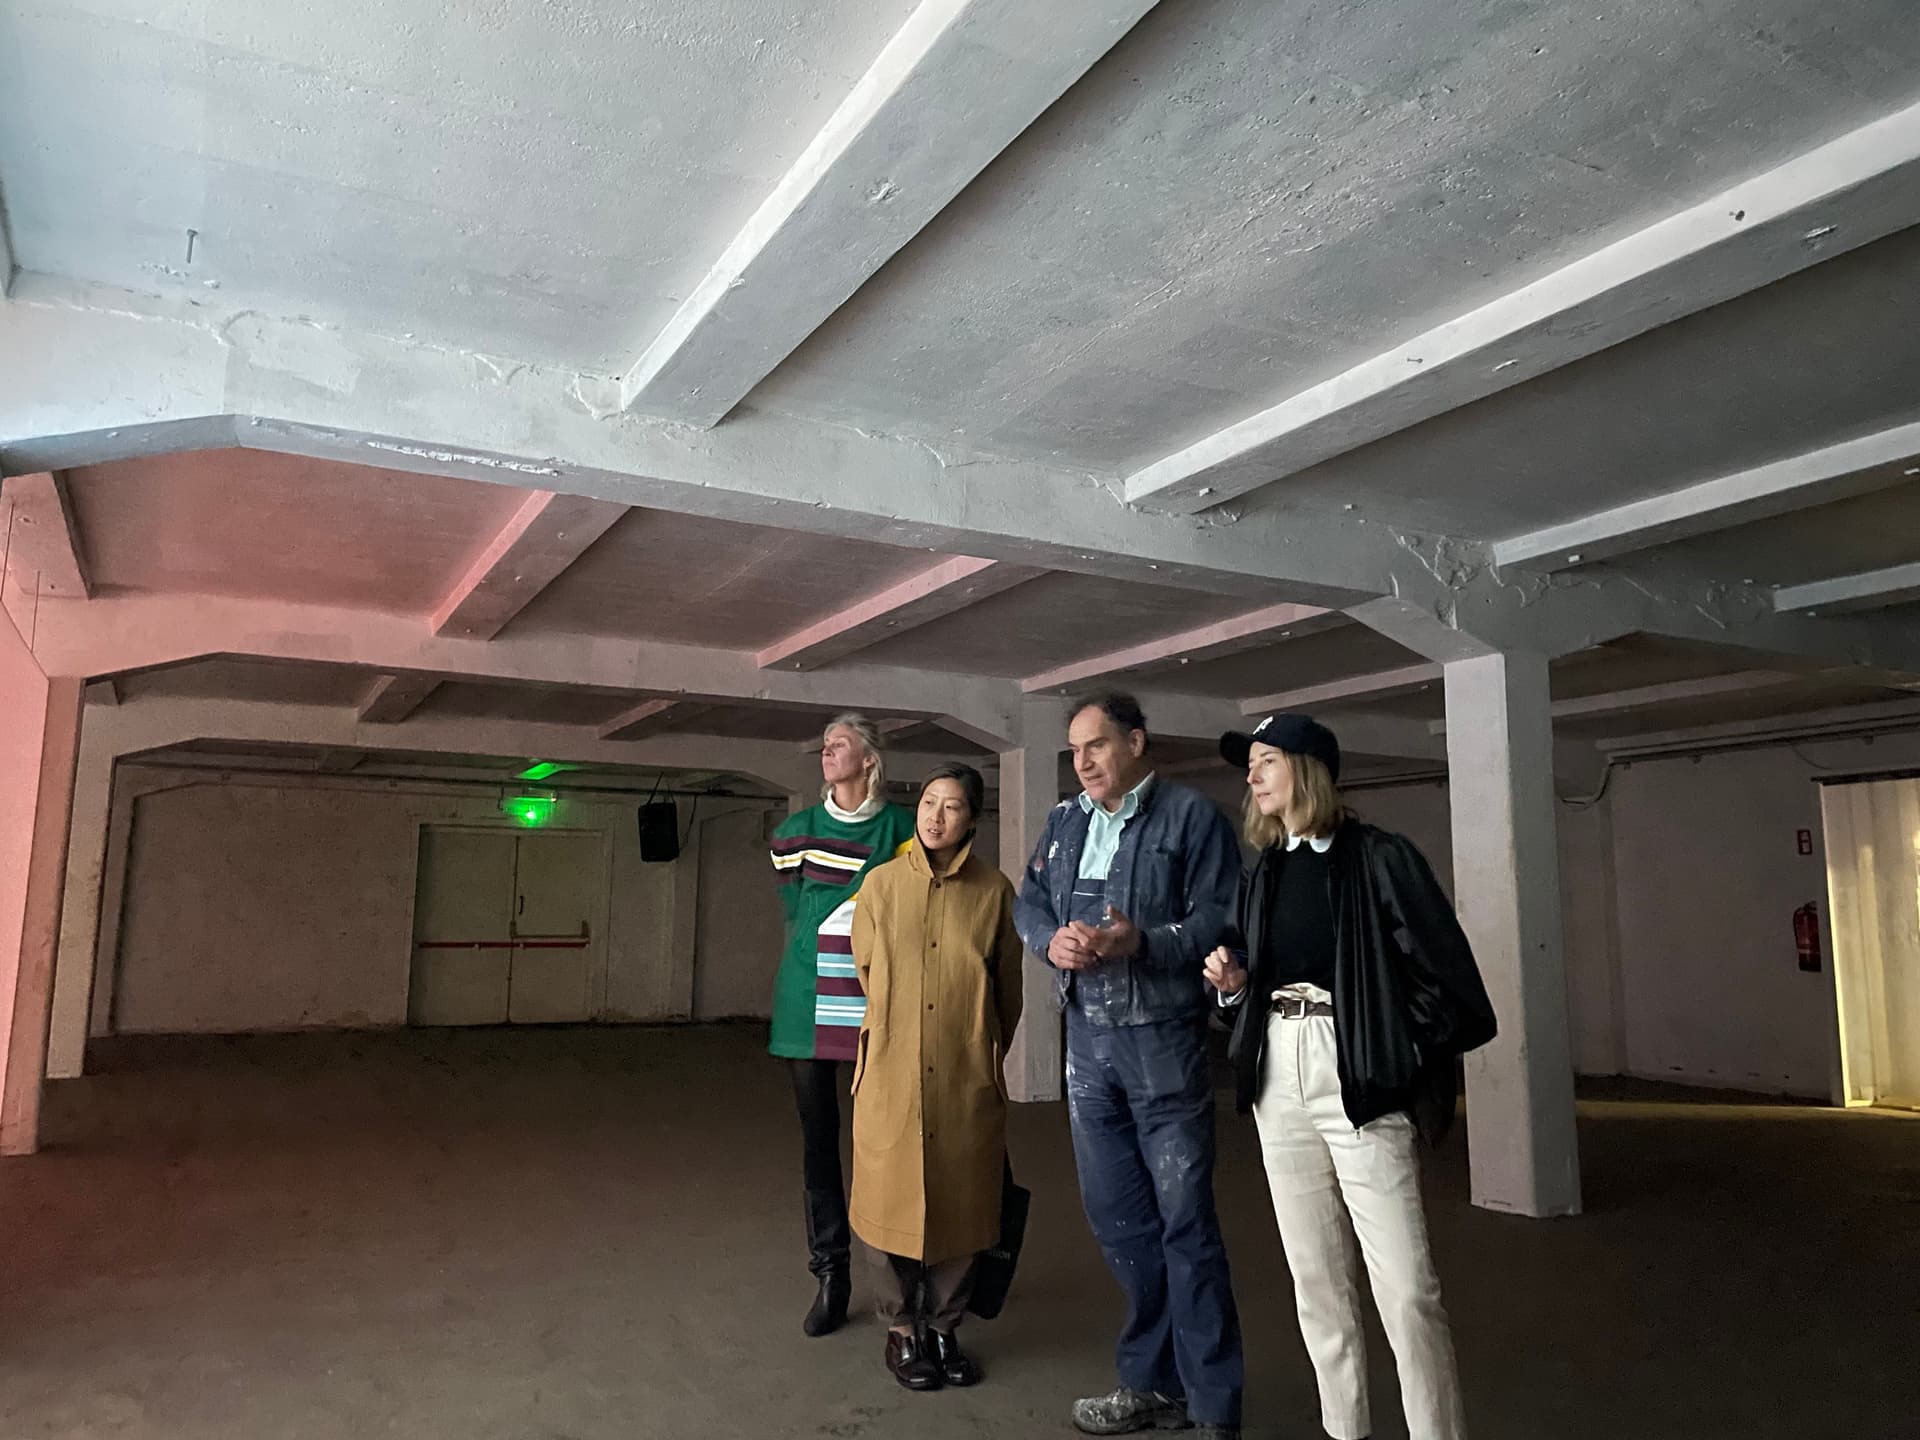
<instances>
[{"instance_id":1,"label":"paint-stained blue denim jacket worn by the man","mask_svg":"<svg viewBox=\"0 0 1920 1440\"><path fill-rule=\"evenodd\" d=\"M1043 960L1071 912L1091 826L1079 799L1062 801L1027 860L1014 924ZM1233 920L1238 885L1240 847L1227 818L1198 791L1152 780L1119 833L1106 877L1106 902L1140 927L1140 950L1091 972L1054 972L1058 1000L1073 996L1094 1025L1150 1025L1202 1014L1208 989L1200 968Z\"/></svg>"}]
</instances>

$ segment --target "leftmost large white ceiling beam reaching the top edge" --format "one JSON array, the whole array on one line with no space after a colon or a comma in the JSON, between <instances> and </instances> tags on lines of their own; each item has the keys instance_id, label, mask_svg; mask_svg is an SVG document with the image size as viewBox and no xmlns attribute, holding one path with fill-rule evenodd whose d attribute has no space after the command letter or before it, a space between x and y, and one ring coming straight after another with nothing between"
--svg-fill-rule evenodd
<instances>
[{"instance_id":1,"label":"leftmost large white ceiling beam reaching the top edge","mask_svg":"<svg viewBox=\"0 0 1920 1440\"><path fill-rule=\"evenodd\" d=\"M716 424L1087 73L1154 0L924 0L634 363Z\"/></svg>"}]
</instances>

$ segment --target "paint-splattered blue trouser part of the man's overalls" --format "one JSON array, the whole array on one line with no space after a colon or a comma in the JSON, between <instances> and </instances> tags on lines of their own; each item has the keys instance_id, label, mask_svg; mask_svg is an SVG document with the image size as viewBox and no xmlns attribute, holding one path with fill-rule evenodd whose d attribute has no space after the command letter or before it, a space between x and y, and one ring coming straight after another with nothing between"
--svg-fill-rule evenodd
<instances>
[{"instance_id":1,"label":"paint-splattered blue trouser part of the man's overalls","mask_svg":"<svg viewBox=\"0 0 1920 1440\"><path fill-rule=\"evenodd\" d=\"M1198 1021L1092 1025L1068 1006L1068 1116L1087 1223L1127 1294L1133 1390L1238 1425L1244 1361L1213 1212L1213 1085Z\"/></svg>"}]
</instances>

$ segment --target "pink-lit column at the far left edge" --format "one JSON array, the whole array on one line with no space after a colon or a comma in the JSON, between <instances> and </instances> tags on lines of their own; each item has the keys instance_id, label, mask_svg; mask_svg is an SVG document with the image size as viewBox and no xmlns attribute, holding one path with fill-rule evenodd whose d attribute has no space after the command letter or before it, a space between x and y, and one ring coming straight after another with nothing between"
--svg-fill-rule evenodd
<instances>
[{"instance_id":1,"label":"pink-lit column at the far left edge","mask_svg":"<svg viewBox=\"0 0 1920 1440\"><path fill-rule=\"evenodd\" d=\"M48 680L0 609L0 1156L40 1142L81 689Z\"/></svg>"}]
</instances>

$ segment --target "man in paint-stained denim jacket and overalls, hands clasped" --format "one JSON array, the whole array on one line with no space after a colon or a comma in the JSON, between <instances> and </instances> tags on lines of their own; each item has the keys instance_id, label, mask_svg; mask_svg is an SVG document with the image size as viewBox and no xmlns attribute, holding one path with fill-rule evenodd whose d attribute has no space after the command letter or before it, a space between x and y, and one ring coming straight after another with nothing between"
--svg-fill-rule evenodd
<instances>
[{"instance_id":1,"label":"man in paint-stained denim jacket and overalls, hands clasped","mask_svg":"<svg viewBox=\"0 0 1920 1440\"><path fill-rule=\"evenodd\" d=\"M1119 1388L1077 1402L1073 1425L1236 1436L1202 966L1233 916L1240 849L1212 801L1154 776L1131 695L1077 701L1068 743L1085 793L1046 818L1014 924L1058 973L1081 1200L1127 1294Z\"/></svg>"}]
</instances>

